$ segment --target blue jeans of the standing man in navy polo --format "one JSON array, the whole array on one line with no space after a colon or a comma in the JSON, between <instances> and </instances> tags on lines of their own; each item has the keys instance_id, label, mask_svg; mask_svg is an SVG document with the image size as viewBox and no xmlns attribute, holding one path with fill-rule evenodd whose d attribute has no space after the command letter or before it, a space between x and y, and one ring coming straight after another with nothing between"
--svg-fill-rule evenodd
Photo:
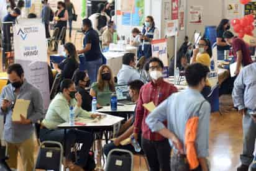
<instances>
[{"instance_id":1,"label":"blue jeans of the standing man in navy polo","mask_svg":"<svg viewBox=\"0 0 256 171\"><path fill-rule=\"evenodd\" d=\"M103 59L97 59L95 61L86 61L86 69L88 70L88 76L89 79L91 80L91 83L97 81L97 75L99 71L99 67L103 64Z\"/></svg>"}]
</instances>

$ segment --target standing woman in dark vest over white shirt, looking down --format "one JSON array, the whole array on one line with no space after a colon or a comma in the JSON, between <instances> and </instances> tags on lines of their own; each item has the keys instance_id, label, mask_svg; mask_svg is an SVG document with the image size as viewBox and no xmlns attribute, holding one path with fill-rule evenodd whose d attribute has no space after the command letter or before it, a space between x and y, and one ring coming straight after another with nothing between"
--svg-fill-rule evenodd
<instances>
[{"instance_id":1,"label":"standing woman in dark vest over white shirt, looking down","mask_svg":"<svg viewBox=\"0 0 256 171\"><path fill-rule=\"evenodd\" d=\"M151 41L159 39L159 30L155 27L155 21L152 16L147 16L145 19L144 28L140 40L142 45L139 48L139 58L145 56L146 59L152 57Z\"/></svg>"}]
</instances>

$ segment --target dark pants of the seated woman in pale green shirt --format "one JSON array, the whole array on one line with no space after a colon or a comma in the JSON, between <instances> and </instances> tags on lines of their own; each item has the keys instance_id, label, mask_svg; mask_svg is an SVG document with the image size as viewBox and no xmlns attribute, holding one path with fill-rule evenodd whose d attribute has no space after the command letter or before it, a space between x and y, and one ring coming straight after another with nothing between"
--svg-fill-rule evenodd
<instances>
[{"instance_id":1,"label":"dark pants of the seated woman in pale green shirt","mask_svg":"<svg viewBox=\"0 0 256 171\"><path fill-rule=\"evenodd\" d=\"M64 129L40 129L40 141L58 141L64 144ZM79 160L76 163L81 167L85 167L89 155L89 150L93 145L93 134L80 131L77 129L68 129L66 131L65 157L72 160L71 148L75 143L81 143Z\"/></svg>"}]
</instances>

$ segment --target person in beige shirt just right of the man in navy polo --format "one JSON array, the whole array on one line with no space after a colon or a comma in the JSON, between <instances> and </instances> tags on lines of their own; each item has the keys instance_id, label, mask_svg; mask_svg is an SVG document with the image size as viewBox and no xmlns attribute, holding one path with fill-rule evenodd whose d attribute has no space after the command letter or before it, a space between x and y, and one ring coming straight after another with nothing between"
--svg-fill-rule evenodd
<instances>
[{"instance_id":1,"label":"person in beige shirt just right of the man in navy polo","mask_svg":"<svg viewBox=\"0 0 256 171\"><path fill-rule=\"evenodd\" d=\"M109 48L109 44L113 43L113 34L115 31L114 22L109 21L107 23L107 29L104 30L102 35L103 49Z\"/></svg>"}]
</instances>

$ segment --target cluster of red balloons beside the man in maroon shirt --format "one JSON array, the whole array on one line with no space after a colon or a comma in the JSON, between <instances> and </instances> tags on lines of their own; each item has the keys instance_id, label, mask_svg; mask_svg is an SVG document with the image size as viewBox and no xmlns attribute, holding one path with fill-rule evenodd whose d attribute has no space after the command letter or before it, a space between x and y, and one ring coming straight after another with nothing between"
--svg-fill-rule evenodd
<instances>
[{"instance_id":1,"label":"cluster of red balloons beside the man in maroon shirt","mask_svg":"<svg viewBox=\"0 0 256 171\"><path fill-rule=\"evenodd\" d=\"M242 19L232 19L231 25L240 38L243 38L244 35L254 36L254 15L252 14L245 15Z\"/></svg>"}]
</instances>

